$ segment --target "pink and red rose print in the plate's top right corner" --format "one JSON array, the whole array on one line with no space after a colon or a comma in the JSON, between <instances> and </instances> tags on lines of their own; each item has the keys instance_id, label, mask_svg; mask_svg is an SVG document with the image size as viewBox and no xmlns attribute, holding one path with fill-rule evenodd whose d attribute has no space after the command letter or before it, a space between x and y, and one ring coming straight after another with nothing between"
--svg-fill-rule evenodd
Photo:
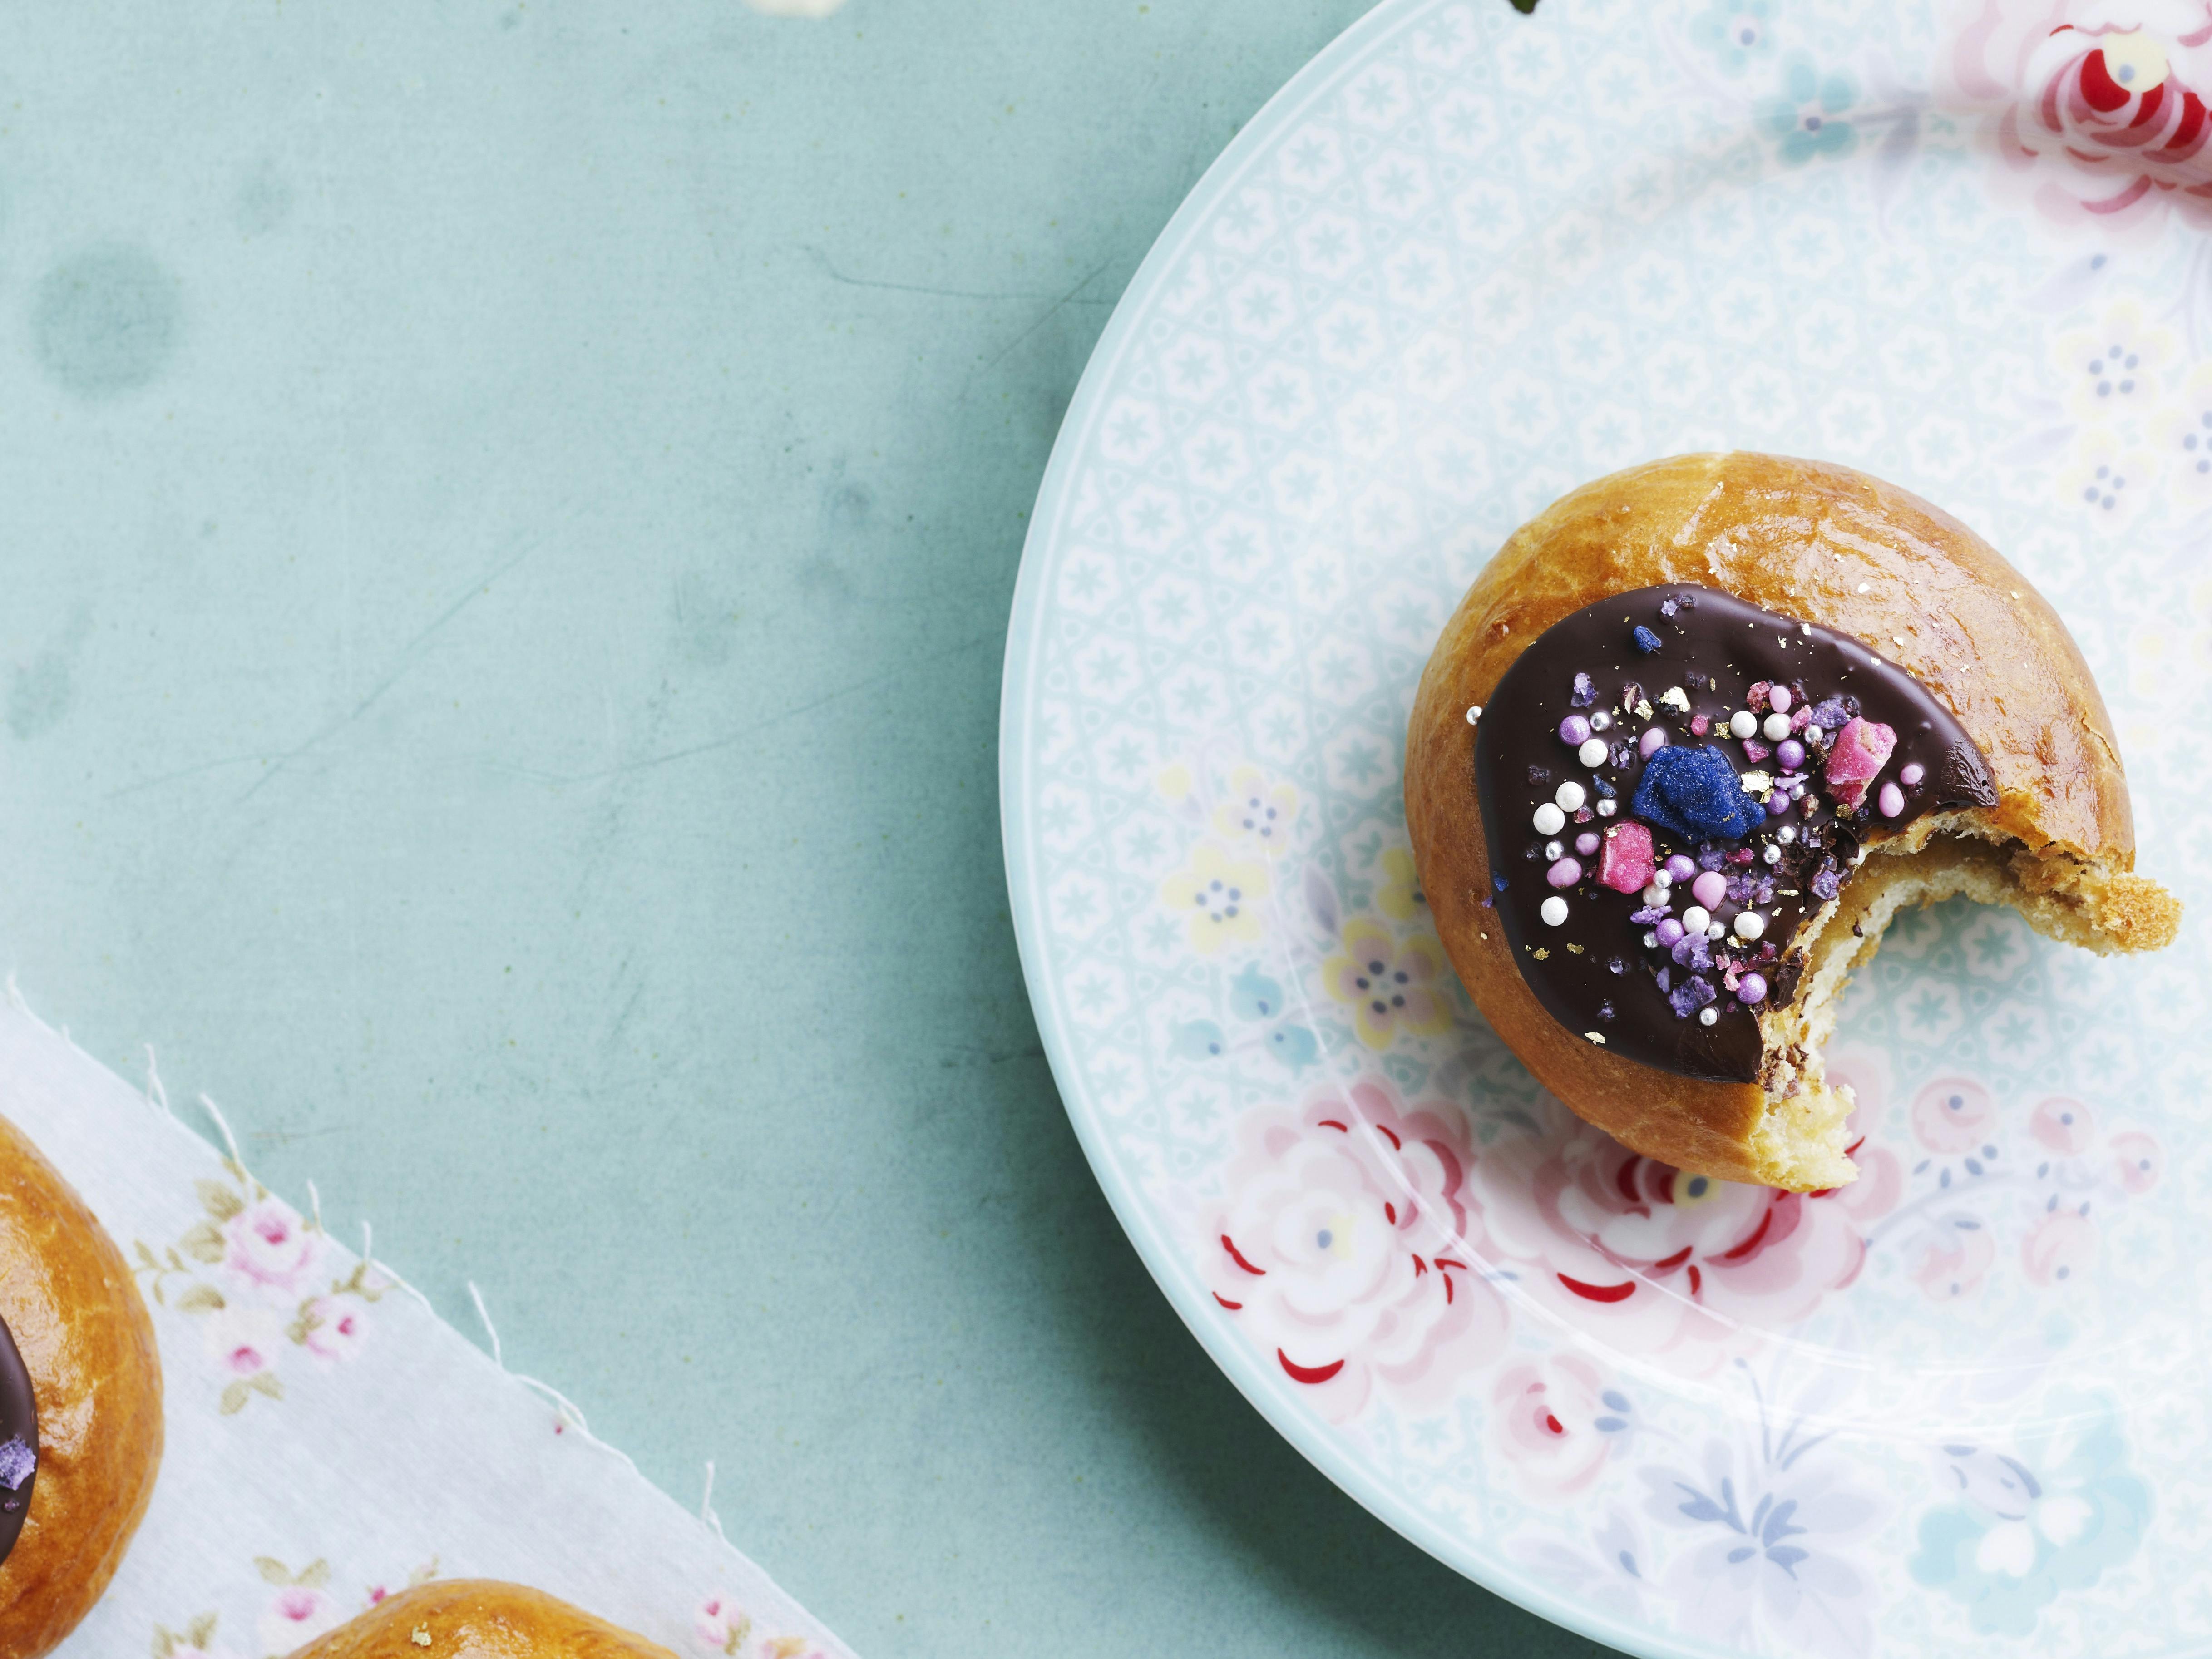
<instances>
[{"instance_id":1,"label":"pink and red rose print in the plate's top right corner","mask_svg":"<svg viewBox=\"0 0 2212 1659\"><path fill-rule=\"evenodd\" d=\"M2212 0L1978 0L1949 73L2046 217L2212 223Z\"/></svg>"}]
</instances>

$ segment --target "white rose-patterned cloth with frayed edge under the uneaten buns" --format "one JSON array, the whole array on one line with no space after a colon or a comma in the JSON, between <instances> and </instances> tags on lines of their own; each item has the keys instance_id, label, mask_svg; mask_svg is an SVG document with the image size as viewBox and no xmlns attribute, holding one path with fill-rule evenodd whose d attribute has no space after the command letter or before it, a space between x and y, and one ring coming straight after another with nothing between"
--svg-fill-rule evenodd
<instances>
[{"instance_id":1,"label":"white rose-patterned cloth with frayed edge under the uneaten buns","mask_svg":"<svg viewBox=\"0 0 2212 1659\"><path fill-rule=\"evenodd\" d=\"M131 1259L166 1383L153 1506L64 1659L274 1659L429 1577L531 1584L686 1657L849 1659L573 1411L20 1006L0 1113Z\"/></svg>"}]
</instances>

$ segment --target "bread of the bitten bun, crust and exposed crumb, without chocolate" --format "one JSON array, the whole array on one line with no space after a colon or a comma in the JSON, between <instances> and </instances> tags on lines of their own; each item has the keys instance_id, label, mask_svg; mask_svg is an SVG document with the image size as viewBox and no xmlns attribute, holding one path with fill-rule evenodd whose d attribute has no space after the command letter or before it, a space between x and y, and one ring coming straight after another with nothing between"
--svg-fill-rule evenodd
<instances>
[{"instance_id":1,"label":"bread of the bitten bun, crust and exposed crumb, without chocolate","mask_svg":"<svg viewBox=\"0 0 2212 1659\"><path fill-rule=\"evenodd\" d=\"M1805 900L1816 907L1792 938L1774 940L1787 971L1774 973L1774 995L1754 1011L1750 1082L1637 1064L1546 1013L1493 889L1493 874L1542 880L1544 867L1493 872L1478 810L1480 728L1467 710L1489 703L1553 624L1670 584L1717 588L1876 648L1955 714L1986 765L1980 803L1949 801L1893 827L1878 816L1858 823L1856 874L1845 869L1825 902ZM1597 670L1555 666L1562 697L1586 666ZM1573 752L1559 752L1571 772ZM2132 874L2112 723L2051 606L1958 520L1878 478L1809 460L1677 456L1584 484L1515 531L1429 657L1407 728L1405 805L1444 949L1513 1053L1632 1150L1730 1181L1820 1190L1856 1177L1845 1155L1851 1097L1827 1086L1820 1046L1851 971L1898 909L1966 894L2095 951L2157 949L2181 920L2172 896ZM1540 971L1533 960L1528 971Z\"/></svg>"}]
</instances>

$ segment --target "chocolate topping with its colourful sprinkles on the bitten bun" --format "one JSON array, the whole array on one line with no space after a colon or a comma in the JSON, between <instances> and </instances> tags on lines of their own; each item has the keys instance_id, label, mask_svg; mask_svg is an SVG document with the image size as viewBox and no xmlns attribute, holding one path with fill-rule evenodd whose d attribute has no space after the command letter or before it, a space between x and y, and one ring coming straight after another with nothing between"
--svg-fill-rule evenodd
<instances>
[{"instance_id":1,"label":"chocolate topping with its colourful sprinkles on the bitten bun","mask_svg":"<svg viewBox=\"0 0 2212 1659\"><path fill-rule=\"evenodd\" d=\"M1774 710L1770 688L1785 688L1787 710ZM1759 721L1752 739L1732 734L1736 712ZM1776 712L1805 750L1794 770L1765 732ZM1599 730L1571 743L1568 717ZM1655 728L1666 745L1648 757ZM1876 759L1880 728L1896 748ZM1997 801L1982 750L1911 672L1863 639L1699 586L1637 588L1546 628L1498 681L1473 737L1489 902L1537 1002L1610 1053L1721 1082L1759 1082L1759 1013L1794 998L1803 922L1863 847L1927 812ZM1590 739L1606 745L1595 765L1582 761ZM1568 801L1582 790L1579 807L1564 807L1562 785ZM1544 805L1564 818L1548 834ZM1657 905L1652 887L1615 891L1599 876L1628 880L1639 867L1632 825L1648 830L1659 867L1670 854L1697 865ZM1593 836L1595 852L1577 849ZM1708 891L1728 889L1703 907L1723 936L1648 945L1668 920L1681 925L1708 872L1721 878ZM1544 920L1548 898L1566 907L1557 925ZM1736 929L1743 911L1763 920L1754 938ZM1739 991L1761 980L1765 995L1743 1002Z\"/></svg>"}]
</instances>

